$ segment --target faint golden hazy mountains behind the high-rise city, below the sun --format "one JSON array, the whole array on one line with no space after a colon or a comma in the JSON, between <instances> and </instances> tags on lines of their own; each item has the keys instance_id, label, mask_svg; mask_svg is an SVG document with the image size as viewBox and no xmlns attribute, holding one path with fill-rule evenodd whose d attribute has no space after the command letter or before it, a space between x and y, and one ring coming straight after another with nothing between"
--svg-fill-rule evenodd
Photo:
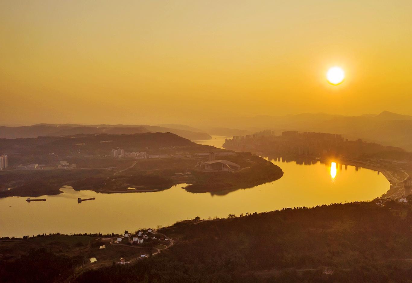
<instances>
[{"instance_id":1,"label":"faint golden hazy mountains behind the high-rise city, below the sun","mask_svg":"<svg viewBox=\"0 0 412 283\"><path fill-rule=\"evenodd\" d=\"M282 131L316 131L342 134L348 139L364 139L382 145L412 151L412 116L389 111L361 116L302 113L298 115L236 117L220 119L220 126L232 129L270 129ZM205 128L207 129L207 128ZM230 133L230 131L227 131Z\"/></svg>"}]
</instances>

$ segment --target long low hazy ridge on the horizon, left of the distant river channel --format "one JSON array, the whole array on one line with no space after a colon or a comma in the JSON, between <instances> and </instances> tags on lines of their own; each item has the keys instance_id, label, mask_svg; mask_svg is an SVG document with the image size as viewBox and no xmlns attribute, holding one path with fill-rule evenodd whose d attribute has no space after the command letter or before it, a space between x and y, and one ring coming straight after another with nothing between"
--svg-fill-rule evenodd
<instances>
[{"instance_id":1,"label":"long low hazy ridge on the horizon, left of the distant river channel","mask_svg":"<svg viewBox=\"0 0 412 283\"><path fill-rule=\"evenodd\" d=\"M174 133L189 140L208 140L212 137L200 131L173 129L150 125L80 125L80 124L36 124L33 126L0 126L0 138L37 138L38 136L71 136L80 133Z\"/></svg>"}]
</instances>

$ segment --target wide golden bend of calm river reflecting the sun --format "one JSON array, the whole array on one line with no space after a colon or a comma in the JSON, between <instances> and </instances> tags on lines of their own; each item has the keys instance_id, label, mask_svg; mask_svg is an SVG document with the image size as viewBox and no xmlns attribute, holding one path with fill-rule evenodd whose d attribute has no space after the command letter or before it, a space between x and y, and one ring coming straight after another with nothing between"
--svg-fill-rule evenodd
<instances>
[{"instance_id":1,"label":"wide golden bend of calm river reflecting the sun","mask_svg":"<svg viewBox=\"0 0 412 283\"><path fill-rule=\"evenodd\" d=\"M223 138L224 141L224 138ZM227 217L229 213L264 212L284 207L316 206L372 200L389 189L389 182L376 171L339 164L303 165L274 160L284 175L281 179L224 196L192 194L176 185L162 192L100 194L76 192L41 196L47 201L27 203L23 197L0 199L0 236L42 233L121 233L143 227L171 225L177 220L199 216ZM96 200L77 203L77 198Z\"/></svg>"}]
</instances>

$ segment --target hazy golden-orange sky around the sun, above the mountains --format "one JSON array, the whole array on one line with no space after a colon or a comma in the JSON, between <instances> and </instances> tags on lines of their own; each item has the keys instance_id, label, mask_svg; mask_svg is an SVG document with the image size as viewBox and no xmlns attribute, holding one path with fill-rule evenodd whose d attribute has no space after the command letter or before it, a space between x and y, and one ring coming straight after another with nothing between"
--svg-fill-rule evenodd
<instances>
[{"instance_id":1,"label":"hazy golden-orange sky around the sun, above the mountains","mask_svg":"<svg viewBox=\"0 0 412 283\"><path fill-rule=\"evenodd\" d=\"M2 0L0 124L412 115L411 13L411 0Z\"/></svg>"}]
</instances>

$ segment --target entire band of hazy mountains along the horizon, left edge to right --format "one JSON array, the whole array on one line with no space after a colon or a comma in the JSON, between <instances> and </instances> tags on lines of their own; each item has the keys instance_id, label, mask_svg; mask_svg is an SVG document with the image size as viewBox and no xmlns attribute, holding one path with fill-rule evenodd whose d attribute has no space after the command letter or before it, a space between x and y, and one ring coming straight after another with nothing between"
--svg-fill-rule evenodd
<instances>
[{"instance_id":1,"label":"entire band of hazy mountains along the horizon, left edge to right","mask_svg":"<svg viewBox=\"0 0 412 283\"><path fill-rule=\"evenodd\" d=\"M0 126L0 138L35 138L37 136L68 136L78 133L151 133L171 132L192 141L208 140L212 135L245 136L270 129L282 131L316 131L342 134L344 138L361 138L368 142L402 147L412 151L412 116L383 111L360 116L302 113L297 115L226 117L205 121L197 127L182 124L151 125L80 125L37 124L33 126Z\"/></svg>"}]
</instances>

